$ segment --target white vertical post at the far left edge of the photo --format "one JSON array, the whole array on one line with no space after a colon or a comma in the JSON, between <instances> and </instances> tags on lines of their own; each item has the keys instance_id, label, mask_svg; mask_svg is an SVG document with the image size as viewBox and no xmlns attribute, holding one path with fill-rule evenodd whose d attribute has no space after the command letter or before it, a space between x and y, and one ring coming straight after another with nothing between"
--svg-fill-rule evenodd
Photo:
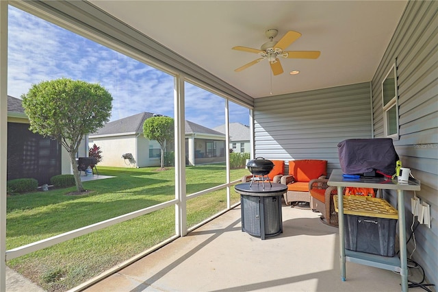
<instances>
[{"instance_id":1,"label":"white vertical post at the far left edge of the photo","mask_svg":"<svg viewBox=\"0 0 438 292\"><path fill-rule=\"evenodd\" d=\"M8 1L0 1L0 291L6 291L6 160L8 149Z\"/></svg>"}]
</instances>

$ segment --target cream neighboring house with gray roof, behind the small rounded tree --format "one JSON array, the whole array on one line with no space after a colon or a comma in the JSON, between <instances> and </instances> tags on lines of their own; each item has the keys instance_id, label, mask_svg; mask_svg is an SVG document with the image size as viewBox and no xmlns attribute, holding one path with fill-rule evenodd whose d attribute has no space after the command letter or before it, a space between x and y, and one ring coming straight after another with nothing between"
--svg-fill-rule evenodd
<instances>
[{"instance_id":1,"label":"cream neighboring house with gray roof, behind the small rounded tree","mask_svg":"<svg viewBox=\"0 0 438 292\"><path fill-rule=\"evenodd\" d=\"M99 165L111 167L155 167L160 165L161 147L143 136L143 123L151 112L112 121L88 136L88 145L101 147ZM172 151L173 144L167 151ZM225 136L202 125L185 121L185 154L188 165L225 161Z\"/></svg>"}]
</instances>

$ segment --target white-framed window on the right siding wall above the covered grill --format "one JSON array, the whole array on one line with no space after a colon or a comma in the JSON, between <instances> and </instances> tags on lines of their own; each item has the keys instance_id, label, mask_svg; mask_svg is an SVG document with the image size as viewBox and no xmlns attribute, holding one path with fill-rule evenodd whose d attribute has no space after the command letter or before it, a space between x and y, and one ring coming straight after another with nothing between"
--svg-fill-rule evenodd
<instances>
[{"instance_id":1,"label":"white-framed window on the right siding wall above the covered grill","mask_svg":"<svg viewBox=\"0 0 438 292\"><path fill-rule=\"evenodd\" d=\"M385 136L398 138L398 90L397 66L394 64L382 82L382 104Z\"/></svg>"}]
</instances>

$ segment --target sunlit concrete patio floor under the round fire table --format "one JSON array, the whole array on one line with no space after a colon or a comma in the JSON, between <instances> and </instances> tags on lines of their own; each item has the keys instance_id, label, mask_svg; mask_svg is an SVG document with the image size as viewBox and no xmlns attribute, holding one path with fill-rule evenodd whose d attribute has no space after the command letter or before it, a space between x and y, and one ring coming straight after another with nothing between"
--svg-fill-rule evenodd
<instances>
[{"instance_id":1,"label":"sunlit concrete patio floor under the round fire table","mask_svg":"<svg viewBox=\"0 0 438 292\"><path fill-rule=\"evenodd\" d=\"M86 291L400 291L397 273L355 263L342 282L337 228L319 215L283 205L283 233L262 241L238 206Z\"/></svg>"}]
</instances>

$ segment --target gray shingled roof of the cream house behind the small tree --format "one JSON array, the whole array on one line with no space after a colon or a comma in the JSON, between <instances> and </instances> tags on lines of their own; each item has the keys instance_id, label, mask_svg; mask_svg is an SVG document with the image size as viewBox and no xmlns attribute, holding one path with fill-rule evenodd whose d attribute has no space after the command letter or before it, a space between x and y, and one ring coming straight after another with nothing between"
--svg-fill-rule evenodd
<instances>
[{"instance_id":1,"label":"gray shingled roof of the cream house behind the small tree","mask_svg":"<svg viewBox=\"0 0 438 292\"><path fill-rule=\"evenodd\" d=\"M105 124L97 132L90 134L90 136L105 136L113 134L141 134L143 132L143 123L146 119L153 117L151 112L140 112L140 114L134 114L133 116L118 119ZM185 121L185 134L210 134L224 136L224 134L211 130L203 125L198 125L191 121Z\"/></svg>"}]
</instances>

